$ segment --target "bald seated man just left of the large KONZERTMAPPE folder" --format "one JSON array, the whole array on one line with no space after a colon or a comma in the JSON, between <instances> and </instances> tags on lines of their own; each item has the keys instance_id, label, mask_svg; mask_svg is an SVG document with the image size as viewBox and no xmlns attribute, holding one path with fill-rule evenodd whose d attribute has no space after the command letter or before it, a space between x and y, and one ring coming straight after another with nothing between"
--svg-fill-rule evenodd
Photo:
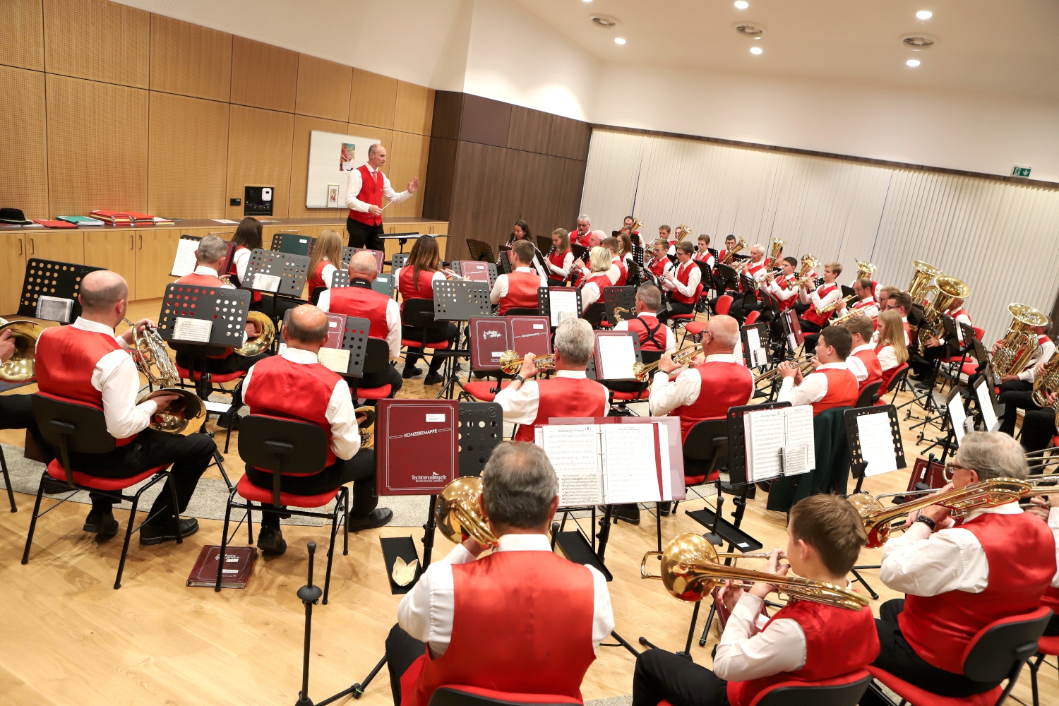
<instances>
[{"instance_id":1,"label":"bald seated man just left of the large KONZERTMAPPE folder","mask_svg":"<svg viewBox=\"0 0 1059 706\"><path fill-rule=\"evenodd\" d=\"M307 421L327 433L327 465L311 475L283 476L280 490L318 495L352 483L353 509L347 520L349 531L356 532L381 527L394 513L376 507L375 450L360 448L349 386L342 376L317 360L327 342L327 316L317 307L304 304L292 309L283 327L287 349L250 368L243 383L244 399L250 414ZM261 488L272 487L272 474L249 464L247 477ZM287 550L280 517L275 512L262 513L257 548L268 556Z\"/></svg>"}]
</instances>

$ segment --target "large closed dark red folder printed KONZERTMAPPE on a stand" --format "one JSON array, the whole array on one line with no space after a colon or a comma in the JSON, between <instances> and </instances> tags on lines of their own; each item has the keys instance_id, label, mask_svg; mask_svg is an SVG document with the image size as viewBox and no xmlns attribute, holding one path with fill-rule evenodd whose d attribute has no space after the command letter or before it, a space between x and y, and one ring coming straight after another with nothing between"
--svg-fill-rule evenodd
<instances>
[{"instance_id":1,"label":"large closed dark red folder printed KONZERTMAPPE on a stand","mask_svg":"<svg viewBox=\"0 0 1059 706\"><path fill-rule=\"evenodd\" d=\"M379 400L375 472L379 495L435 495L460 474L455 400Z\"/></svg>"}]
</instances>

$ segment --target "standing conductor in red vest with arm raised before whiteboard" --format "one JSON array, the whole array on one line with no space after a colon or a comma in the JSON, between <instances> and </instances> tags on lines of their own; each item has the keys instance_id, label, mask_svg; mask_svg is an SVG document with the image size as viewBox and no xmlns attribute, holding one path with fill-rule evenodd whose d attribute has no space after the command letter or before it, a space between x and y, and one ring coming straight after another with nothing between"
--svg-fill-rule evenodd
<instances>
[{"instance_id":1,"label":"standing conductor in red vest with arm raised before whiteboard","mask_svg":"<svg viewBox=\"0 0 1059 706\"><path fill-rule=\"evenodd\" d=\"M376 143L367 148L367 163L349 173L345 188L345 205L349 215L345 230L349 232L351 248L382 251L382 197L390 203L400 203L412 198L419 188L419 178L408 182L408 191L398 194L390 179L379 171L387 163L387 148Z\"/></svg>"}]
</instances>

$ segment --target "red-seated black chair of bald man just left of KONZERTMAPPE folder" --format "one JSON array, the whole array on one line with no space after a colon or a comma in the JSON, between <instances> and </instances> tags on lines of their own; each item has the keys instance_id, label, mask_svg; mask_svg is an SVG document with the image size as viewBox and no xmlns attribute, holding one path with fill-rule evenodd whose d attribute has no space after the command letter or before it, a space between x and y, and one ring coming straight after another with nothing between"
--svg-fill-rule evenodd
<instances>
[{"instance_id":1,"label":"red-seated black chair of bald man just left of KONZERTMAPPE folder","mask_svg":"<svg viewBox=\"0 0 1059 706\"><path fill-rule=\"evenodd\" d=\"M272 473L272 487L263 488L255 486L250 478L244 474L239 482L228 494L228 507L225 509L225 529L220 537L220 555L223 556L225 547L228 546L228 525L231 520L232 509L246 511L247 521L247 542L253 544L253 527L251 526L250 511L279 512L276 508L282 505L288 509L284 513L297 514L300 518L321 518L331 521L330 544L327 547L327 574L324 578L323 603L327 604L327 593L330 589L331 560L335 558L335 536L338 533L338 525L342 525L342 554L349 554L349 527L346 518L349 513L349 489L340 486L335 490L329 490L318 495L295 495L294 493L280 490L282 476L284 475L308 475L323 470L327 464L327 435L324 430L316 424L305 421L294 421L291 419L280 419L265 415L251 414L243 418L239 423L239 457L254 468ZM238 493L246 499L246 505L238 503L235 495ZM324 512L312 512L308 510L294 510L290 508L313 508L328 505L335 496L338 501L334 508ZM254 503L258 503L255 507ZM240 520L241 524L243 521ZM238 525L232 530L232 538L238 530ZM220 591L220 571L217 566L217 583L214 591Z\"/></svg>"}]
</instances>

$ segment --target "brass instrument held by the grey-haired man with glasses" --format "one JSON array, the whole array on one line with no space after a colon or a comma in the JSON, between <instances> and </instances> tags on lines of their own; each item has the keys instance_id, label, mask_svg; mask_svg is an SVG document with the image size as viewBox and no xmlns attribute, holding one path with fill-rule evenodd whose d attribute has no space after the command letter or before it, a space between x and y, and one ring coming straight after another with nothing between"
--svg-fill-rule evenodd
<instances>
[{"instance_id":1,"label":"brass instrument held by the grey-haired man with glasses","mask_svg":"<svg viewBox=\"0 0 1059 706\"><path fill-rule=\"evenodd\" d=\"M857 508L861 520L864 521L864 530L867 532L867 544L864 546L874 549L882 546L890 539L890 523L913 510L940 505L949 508L953 517L962 518L971 510L997 507L1017 501L1030 488L1030 484L1019 478L990 478L973 483L959 490L917 497L894 507L884 507L878 499L863 492L850 495L849 502Z\"/></svg>"}]
</instances>

